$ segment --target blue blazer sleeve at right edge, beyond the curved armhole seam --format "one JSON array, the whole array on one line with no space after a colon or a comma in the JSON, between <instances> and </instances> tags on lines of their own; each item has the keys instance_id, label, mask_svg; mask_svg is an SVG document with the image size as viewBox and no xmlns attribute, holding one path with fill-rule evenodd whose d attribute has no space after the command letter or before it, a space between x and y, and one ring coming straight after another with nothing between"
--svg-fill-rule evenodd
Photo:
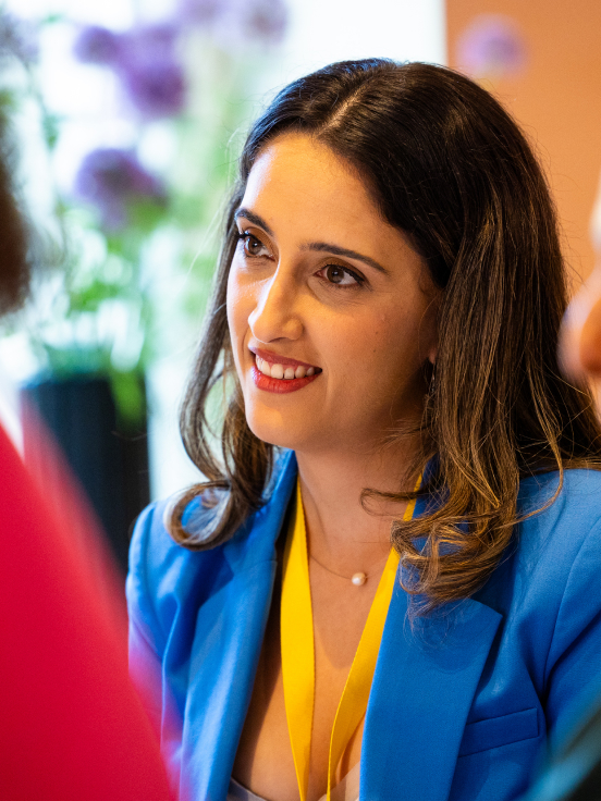
<instances>
[{"instance_id":1,"label":"blue blazer sleeve at right edge, beyond the curved armhole seam","mask_svg":"<svg viewBox=\"0 0 601 801\"><path fill-rule=\"evenodd\" d=\"M601 520L582 540L565 582L545 664L547 720L555 730L601 675Z\"/></svg>"}]
</instances>

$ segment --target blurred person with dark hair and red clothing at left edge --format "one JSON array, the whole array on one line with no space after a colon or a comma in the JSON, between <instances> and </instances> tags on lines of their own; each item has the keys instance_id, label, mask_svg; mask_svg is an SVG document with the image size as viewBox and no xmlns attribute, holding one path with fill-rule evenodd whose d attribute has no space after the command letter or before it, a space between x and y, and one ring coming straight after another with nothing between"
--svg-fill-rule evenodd
<instances>
[{"instance_id":1,"label":"blurred person with dark hair and red clothing at left edge","mask_svg":"<svg viewBox=\"0 0 601 801\"><path fill-rule=\"evenodd\" d=\"M19 307L29 276L8 164L0 127L1 312ZM52 465L30 475L0 426L0 799L167 801L112 566L56 454Z\"/></svg>"}]
</instances>

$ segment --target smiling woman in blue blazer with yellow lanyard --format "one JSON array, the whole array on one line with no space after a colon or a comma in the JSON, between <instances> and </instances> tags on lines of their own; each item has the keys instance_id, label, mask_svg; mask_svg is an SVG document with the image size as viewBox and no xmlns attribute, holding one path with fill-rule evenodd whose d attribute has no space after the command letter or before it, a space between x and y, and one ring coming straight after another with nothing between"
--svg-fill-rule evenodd
<instances>
[{"instance_id":1,"label":"smiling woman in blue blazer with yellow lanyard","mask_svg":"<svg viewBox=\"0 0 601 801\"><path fill-rule=\"evenodd\" d=\"M333 64L254 125L182 418L207 480L143 515L127 587L192 798L355 801L358 765L370 801L525 789L601 664L564 283L542 173L467 78Z\"/></svg>"}]
</instances>

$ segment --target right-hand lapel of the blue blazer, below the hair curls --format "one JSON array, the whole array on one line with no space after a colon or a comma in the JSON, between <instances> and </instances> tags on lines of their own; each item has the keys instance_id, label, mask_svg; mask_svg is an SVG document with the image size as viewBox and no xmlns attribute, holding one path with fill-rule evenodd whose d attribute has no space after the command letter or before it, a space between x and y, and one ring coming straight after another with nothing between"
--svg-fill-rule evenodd
<instances>
[{"instance_id":1,"label":"right-hand lapel of the blue blazer, below the hair curls","mask_svg":"<svg viewBox=\"0 0 601 801\"><path fill-rule=\"evenodd\" d=\"M446 612L446 611L445 611ZM360 798L443 801L480 674L502 616L474 600L449 614L406 619L391 601L367 707Z\"/></svg>"}]
</instances>

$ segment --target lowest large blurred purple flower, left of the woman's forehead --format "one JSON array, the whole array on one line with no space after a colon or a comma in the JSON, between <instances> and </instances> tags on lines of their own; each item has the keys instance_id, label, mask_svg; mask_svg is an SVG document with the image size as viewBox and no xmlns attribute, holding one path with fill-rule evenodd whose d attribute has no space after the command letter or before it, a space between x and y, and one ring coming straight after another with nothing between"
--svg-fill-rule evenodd
<instances>
[{"instance_id":1,"label":"lowest large blurred purple flower, left of the woman's forehead","mask_svg":"<svg viewBox=\"0 0 601 801\"><path fill-rule=\"evenodd\" d=\"M75 193L96 206L105 227L122 229L128 208L140 200L163 205L167 194L161 182L150 175L130 150L99 148L83 160L75 177Z\"/></svg>"}]
</instances>

